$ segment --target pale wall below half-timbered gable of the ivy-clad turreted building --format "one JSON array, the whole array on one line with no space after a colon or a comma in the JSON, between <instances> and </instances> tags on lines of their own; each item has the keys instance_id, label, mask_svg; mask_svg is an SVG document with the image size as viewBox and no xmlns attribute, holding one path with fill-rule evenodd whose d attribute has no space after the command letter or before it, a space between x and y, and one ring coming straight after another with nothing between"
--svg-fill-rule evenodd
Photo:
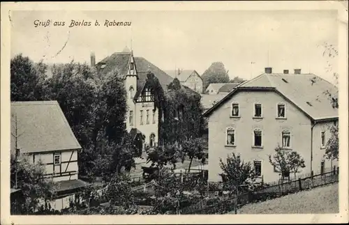
<instances>
[{"instance_id":1,"label":"pale wall below half-timbered gable of the ivy-clad turreted building","mask_svg":"<svg viewBox=\"0 0 349 225\"><path fill-rule=\"evenodd\" d=\"M155 111L155 123L153 123L154 102L138 102L135 105L135 127L145 136L144 143L149 144L150 134L155 134L155 142L158 143L158 110ZM140 124L140 111L143 111L143 124ZM149 124L146 123L147 110L149 110Z\"/></svg>"}]
</instances>

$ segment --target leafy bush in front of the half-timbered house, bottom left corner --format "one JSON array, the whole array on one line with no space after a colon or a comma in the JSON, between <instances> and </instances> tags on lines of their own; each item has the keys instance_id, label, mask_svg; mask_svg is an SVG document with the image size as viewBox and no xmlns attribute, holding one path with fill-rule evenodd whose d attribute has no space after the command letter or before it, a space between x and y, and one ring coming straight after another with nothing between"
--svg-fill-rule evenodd
<instances>
[{"instance_id":1,"label":"leafy bush in front of the half-timbered house, bottom left corner","mask_svg":"<svg viewBox=\"0 0 349 225\"><path fill-rule=\"evenodd\" d=\"M11 183L15 184L16 162L13 155L10 162ZM23 196L22 214L33 214L40 210L40 205L51 200L56 193L57 186L44 174L45 166L41 162L33 164L27 157L17 162L17 188L21 189Z\"/></svg>"}]
</instances>

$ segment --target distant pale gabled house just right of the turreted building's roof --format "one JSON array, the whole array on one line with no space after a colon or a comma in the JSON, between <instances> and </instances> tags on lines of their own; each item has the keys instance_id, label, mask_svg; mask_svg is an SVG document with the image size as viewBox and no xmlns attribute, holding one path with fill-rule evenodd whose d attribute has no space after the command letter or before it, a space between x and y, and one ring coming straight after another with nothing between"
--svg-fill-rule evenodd
<instances>
[{"instance_id":1,"label":"distant pale gabled house just right of the turreted building's roof","mask_svg":"<svg viewBox=\"0 0 349 225\"><path fill-rule=\"evenodd\" d=\"M202 78L196 70L165 70L173 78L179 79L179 82L191 90L202 93Z\"/></svg>"}]
</instances>

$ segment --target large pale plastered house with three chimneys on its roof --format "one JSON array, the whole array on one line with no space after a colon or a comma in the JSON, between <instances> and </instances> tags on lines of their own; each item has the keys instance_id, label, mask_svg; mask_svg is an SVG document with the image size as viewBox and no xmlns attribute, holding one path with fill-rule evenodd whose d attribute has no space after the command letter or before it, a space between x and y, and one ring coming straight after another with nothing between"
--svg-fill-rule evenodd
<instances>
[{"instance_id":1,"label":"large pale plastered house with three chimneys on its roof","mask_svg":"<svg viewBox=\"0 0 349 225\"><path fill-rule=\"evenodd\" d=\"M203 115L209 121L209 181L221 180L219 160L230 153L251 162L259 180L279 180L269 163L278 145L304 158L301 173L322 173L336 165L324 157L329 128L339 119L326 91L336 94L337 88L300 69L289 74L265 68L237 86Z\"/></svg>"}]
</instances>

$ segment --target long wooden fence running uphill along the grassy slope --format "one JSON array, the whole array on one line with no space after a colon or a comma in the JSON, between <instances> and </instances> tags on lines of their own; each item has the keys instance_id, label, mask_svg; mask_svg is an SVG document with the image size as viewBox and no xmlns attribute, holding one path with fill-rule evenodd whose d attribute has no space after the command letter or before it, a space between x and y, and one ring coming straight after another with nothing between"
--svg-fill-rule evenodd
<instances>
[{"instance_id":1,"label":"long wooden fence running uphill along the grassy slope","mask_svg":"<svg viewBox=\"0 0 349 225\"><path fill-rule=\"evenodd\" d=\"M308 176L291 180L286 183L278 183L276 185L269 185L255 192L246 192L238 196L238 207L253 203L257 201L265 201L267 199L274 199L286 194L302 191L304 189L312 189L322 185L337 183L339 181L339 169L329 171L327 173L320 173L315 176ZM222 214L234 210L235 197L220 198L218 201L212 199L203 199L195 205L188 206L181 209L181 214ZM216 199L217 200L217 199Z\"/></svg>"}]
</instances>

